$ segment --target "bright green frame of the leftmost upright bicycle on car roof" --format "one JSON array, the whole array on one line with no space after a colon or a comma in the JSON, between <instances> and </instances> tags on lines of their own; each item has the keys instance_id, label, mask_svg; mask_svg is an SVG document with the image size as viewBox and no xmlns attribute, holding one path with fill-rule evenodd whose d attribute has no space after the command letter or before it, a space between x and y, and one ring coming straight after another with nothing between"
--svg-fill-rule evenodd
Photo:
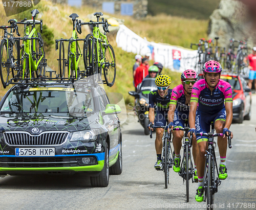
<instances>
[{"instance_id":1,"label":"bright green frame of the leftmost upright bicycle on car roof","mask_svg":"<svg viewBox=\"0 0 256 210\"><path fill-rule=\"evenodd\" d=\"M35 28L32 29L31 32L29 32L29 26L26 26L26 34L28 35L28 38L35 38L38 37L37 35L37 31ZM33 49L32 49L32 44L31 41L33 42ZM31 71L36 71L38 64L40 63L41 59L44 57L44 50L42 49L42 47L40 47L41 51L42 51L42 56L40 57L40 59L36 62L36 59L33 60L32 58L32 52L36 51L36 40L35 39L28 39L26 41L24 41L24 62L23 62L23 79L24 79L24 74L25 74L25 67L26 67L26 61L27 59L29 59L29 74L30 74L30 79L31 79ZM22 56L22 52L21 55Z\"/></svg>"}]
</instances>

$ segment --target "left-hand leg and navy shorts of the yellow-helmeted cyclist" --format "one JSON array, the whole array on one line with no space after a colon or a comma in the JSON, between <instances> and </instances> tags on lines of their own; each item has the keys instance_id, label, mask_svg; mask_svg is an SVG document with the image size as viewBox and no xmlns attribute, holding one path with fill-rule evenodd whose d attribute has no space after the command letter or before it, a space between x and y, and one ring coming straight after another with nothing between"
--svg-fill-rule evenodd
<instances>
[{"instance_id":1,"label":"left-hand leg and navy shorts of the yellow-helmeted cyclist","mask_svg":"<svg viewBox=\"0 0 256 210\"><path fill-rule=\"evenodd\" d=\"M155 114L155 126L165 126L166 120L164 113L162 111L157 110ZM156 128L156 139L155 139L155 148L157 153L157 162L155 164L155 169L160 170L162 168L162 148L163 148L163 128Z\"/></svg>"}]
</instances>

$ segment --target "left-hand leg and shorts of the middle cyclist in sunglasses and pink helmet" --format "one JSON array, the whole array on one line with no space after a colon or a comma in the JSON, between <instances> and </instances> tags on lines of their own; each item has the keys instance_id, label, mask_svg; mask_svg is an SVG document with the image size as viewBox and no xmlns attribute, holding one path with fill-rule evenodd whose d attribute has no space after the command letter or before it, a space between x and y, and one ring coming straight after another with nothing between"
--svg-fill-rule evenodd
<instances>
[{"instance_id":1,"label":"left-hand leg and shorts of the middle cyclist in sunglasses and pink helmet","mask_svg":"<svg viewBox=\"0 0 256 210\"><path fill-rule=\"evenodd\" d=\"M178 111L174 112L174 128L184 128L185 121L181 119L181 114ZM180 155L180 149L182 146L182 138L184 135L184 132L179 130L179 131L173 131L173 144L174 144L174 166L173 169L175 172L180 172L180 160L181 160L181 155Z\"/></svg>"}]
</instances>

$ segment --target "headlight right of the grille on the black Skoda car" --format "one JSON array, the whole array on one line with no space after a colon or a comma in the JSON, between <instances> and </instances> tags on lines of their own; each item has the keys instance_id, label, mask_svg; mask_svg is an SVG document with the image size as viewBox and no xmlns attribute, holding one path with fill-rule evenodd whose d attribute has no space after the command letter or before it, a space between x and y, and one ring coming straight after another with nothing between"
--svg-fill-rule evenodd
<instances>
[{"instance_id":1,"label":"headlight right of the grille on the black Skoda car","mask_svg":"<svg viewBox=\"0 0 256 210\"><path fill-rule=\"evenodd\" d=\"M99 133L98 129L76 131L76 132L73 132L70 141L71 142L73 141L82 141L82 142L91 141L92 142L96 140L98 133Z\"/></svg>"}]
</instances>

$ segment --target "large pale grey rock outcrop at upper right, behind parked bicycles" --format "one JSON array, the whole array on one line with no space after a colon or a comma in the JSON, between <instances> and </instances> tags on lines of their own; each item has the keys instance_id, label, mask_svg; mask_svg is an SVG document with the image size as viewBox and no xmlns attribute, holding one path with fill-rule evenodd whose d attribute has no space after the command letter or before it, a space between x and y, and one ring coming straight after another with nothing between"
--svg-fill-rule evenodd
<instances>
[{"instance_id":1,"label":"large pale grey rock outcrop at upper right, behind parked bicycles","mask_svg":"<svg viewBox=\"0 0 256 210\"><path fill-rule=\"evenodd\" d=\"M248 6L240 1L221 0L219 8L210 16L208 38L219 37L218 45L228 47L229 39L248 41L252 48L255 34Z\"/></svg>"}]
</instances>

